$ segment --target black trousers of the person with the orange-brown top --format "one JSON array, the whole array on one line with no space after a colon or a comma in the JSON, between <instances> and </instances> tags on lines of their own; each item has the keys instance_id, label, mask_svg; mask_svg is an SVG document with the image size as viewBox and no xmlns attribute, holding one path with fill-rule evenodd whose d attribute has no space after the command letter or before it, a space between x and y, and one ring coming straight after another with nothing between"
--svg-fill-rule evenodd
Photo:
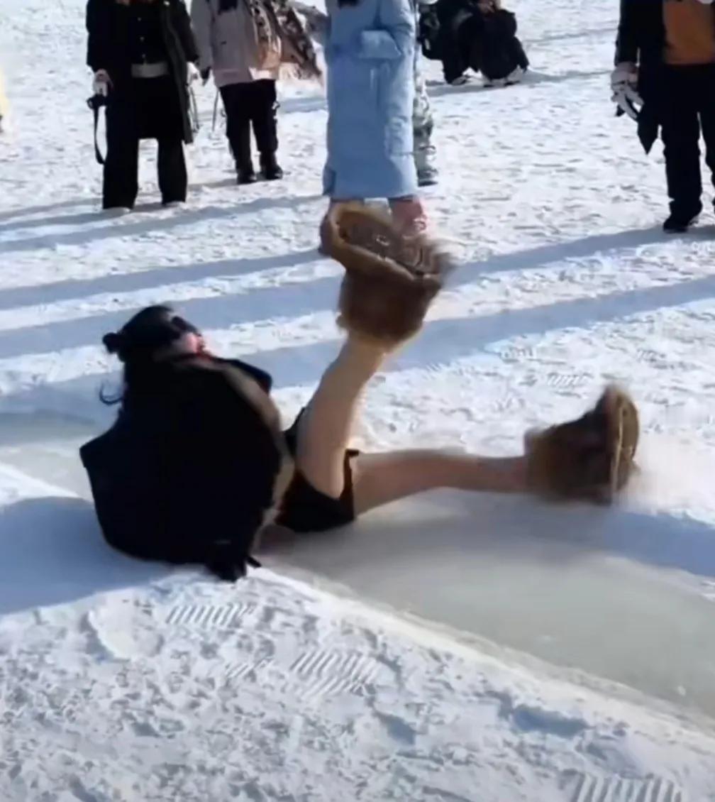
<instances>
[{"instance_id":1,"label":"black trousers of the person with the orange-brown top","mask_svg":"<svg viewBox=\"0 0 715 802\"><path fill-rule=\"evenodd\" d=\"M702 209L700 135L715 184L715 64L667 67L659 98L665 176L671 212L688 217Z\"/></svg>"}]
</instances>

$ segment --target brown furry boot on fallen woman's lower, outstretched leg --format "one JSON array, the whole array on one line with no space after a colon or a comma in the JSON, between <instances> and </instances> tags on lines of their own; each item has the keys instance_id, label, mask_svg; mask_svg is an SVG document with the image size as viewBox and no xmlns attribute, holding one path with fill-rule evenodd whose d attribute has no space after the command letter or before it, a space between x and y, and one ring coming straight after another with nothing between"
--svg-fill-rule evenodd
<instances>
[{"instance_id":1,"label":"brown furry boot on fallen woman's lower, outstretched leg","mask_svg":"<svg viewBox=\"0 0 715 802\"><path fill-rule=\"evenodd\" d=\"M552 500L611 504L636 470L638 438L635 403L610 385L579 419L527 432L528 484Z\"/></svg>"}]
</instances>

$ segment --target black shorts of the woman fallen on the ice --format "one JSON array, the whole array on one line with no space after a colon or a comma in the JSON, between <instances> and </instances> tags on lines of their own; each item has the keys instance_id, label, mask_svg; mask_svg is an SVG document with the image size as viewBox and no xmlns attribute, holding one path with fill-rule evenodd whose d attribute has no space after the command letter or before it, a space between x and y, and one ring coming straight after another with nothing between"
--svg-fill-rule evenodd
<instances>
[{"instance_id":1,"label":"black shorts of the woman fallen on the ice","mask_svg":"<svg viewBox=\"0 0 715 802\"><path fill-rule=\"evenodd\" d=\"M297 428L301 413L293 426L285 431L285 442L291 456L296 456ZM349 449L345 452L344 472L345 486L340 498L333 499L316 490L312 484L296 468L288 489L285 491L276 523L292 529L293 532L325 532L337 529L355 520L353 504L353 470L350 465L353 457L360 452Z\"/></svg>"}]
</instances>

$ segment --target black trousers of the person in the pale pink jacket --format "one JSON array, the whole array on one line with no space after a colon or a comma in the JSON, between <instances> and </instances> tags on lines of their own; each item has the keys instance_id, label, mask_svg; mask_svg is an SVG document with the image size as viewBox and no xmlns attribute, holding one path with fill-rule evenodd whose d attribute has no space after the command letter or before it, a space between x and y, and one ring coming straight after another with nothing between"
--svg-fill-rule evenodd
<instances>
[{"instance_id":1,"label":"black trousers of the person in the pale pink jacket","mask_svg":"<svg viewBox=\"0 0 715 802\"><path fill-rule=\"evenodd\" d=\"M276 82L271 80L232 83L221 87L226 110L226 136L236 167L251 161L251 127L262 157L278 149Z\"/></svg>"}]
</instances>

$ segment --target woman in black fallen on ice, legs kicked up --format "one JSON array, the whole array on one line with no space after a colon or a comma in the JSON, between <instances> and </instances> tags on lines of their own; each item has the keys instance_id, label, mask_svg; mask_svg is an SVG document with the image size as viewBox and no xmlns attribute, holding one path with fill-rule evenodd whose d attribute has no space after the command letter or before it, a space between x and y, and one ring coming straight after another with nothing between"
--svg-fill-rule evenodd
<instances>
[{"instance_id":1,"label":"woman in black fallen on ice, legs kicked up","mask_svg":"<svg viewBox=\"0 0 715 802\"><path fill-rule=\"evenodd\" d=\"M235 580L257 565L252 550L270 522L325 531L430 488L603 503L624 487L638 418L615 388L580 419L527 435L522 456L350 450L362 392L418 332L450 265L425 237L406 239L363 205L333 207L327 245L346 271L345 342L288 431L271 377L212 355L168 307L145 309L104 338L124 365L121 406L81 456L111 545Z\"/></svg>"}]
</instances>

